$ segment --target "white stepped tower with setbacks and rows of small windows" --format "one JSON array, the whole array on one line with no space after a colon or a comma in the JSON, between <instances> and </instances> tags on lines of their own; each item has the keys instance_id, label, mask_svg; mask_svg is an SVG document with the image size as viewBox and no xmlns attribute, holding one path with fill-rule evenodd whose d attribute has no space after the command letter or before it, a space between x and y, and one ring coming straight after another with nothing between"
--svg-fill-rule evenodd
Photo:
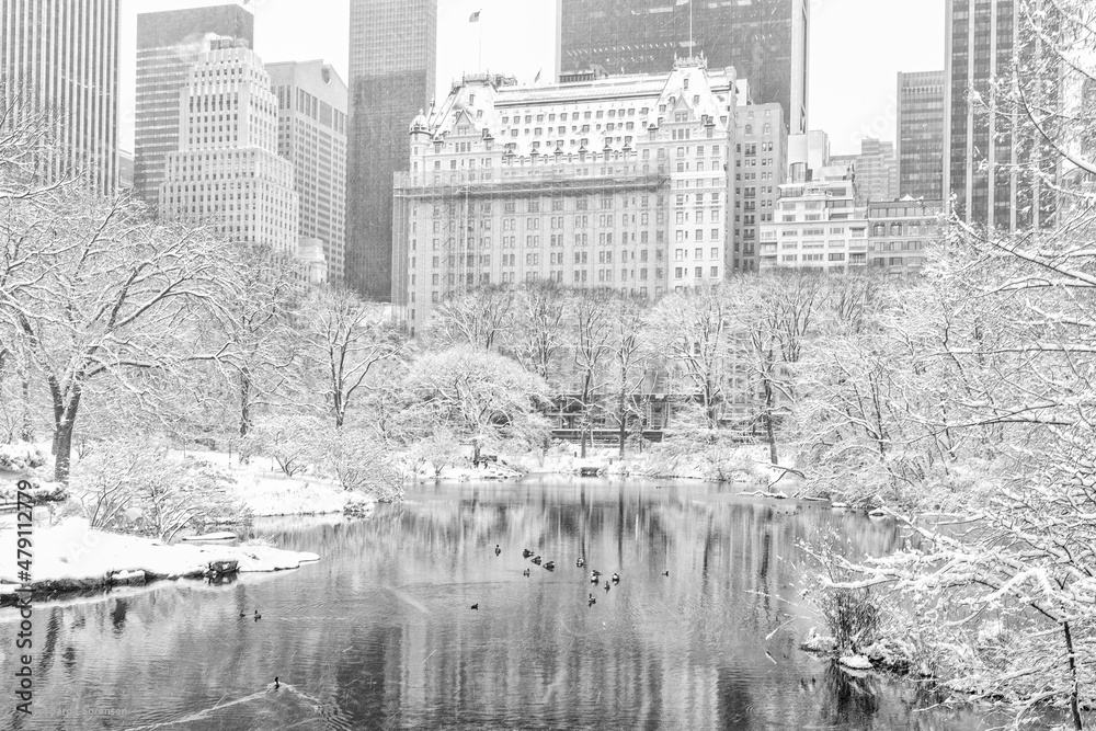
<instances>
[{"instance_id":1,"label":"white stepped tower with setbacks and rows of small windows","mask_svg":"<svg viewBox=\"0 0 1096 731\"><path fill-rule=\"evenodd\" d=\"M179 119L161 215L296 256L297 191L293 163L278 155L277 98L246 42L214 41L198 56L179 92Z\"/></svg>"}]
</instances>

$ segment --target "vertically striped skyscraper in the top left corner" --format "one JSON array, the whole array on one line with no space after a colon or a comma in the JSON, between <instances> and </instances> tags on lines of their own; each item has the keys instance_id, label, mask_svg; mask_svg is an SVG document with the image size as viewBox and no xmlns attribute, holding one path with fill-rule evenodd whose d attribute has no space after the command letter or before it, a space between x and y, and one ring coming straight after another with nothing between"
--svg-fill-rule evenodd
<instances>
[{"instance_id":1,"label":"vertically striped skyscraper in the top left corner","mask_svg":"<svg viewBox=\"0 0 1096 731\"><path fill-rule=\"evenodd\" d=\"M118 156L118 0L0 2L0 84L14 114L49 112L44 180L87 176L112 193Z\"/></svg>"}]
</instances>

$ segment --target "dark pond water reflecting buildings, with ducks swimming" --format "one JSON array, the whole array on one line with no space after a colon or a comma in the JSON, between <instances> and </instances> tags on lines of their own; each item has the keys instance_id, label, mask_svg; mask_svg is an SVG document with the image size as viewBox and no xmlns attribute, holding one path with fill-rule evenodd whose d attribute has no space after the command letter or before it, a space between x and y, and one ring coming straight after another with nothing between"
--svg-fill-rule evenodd
<instances>
[{"instance_id":1,"label":"dark pond water reflecting buildings, with ducks swimming","mask_svg":"<svg viewBox=\"0 0 1096 731\"><path fill-rule=\"evenodd\" d=\"M817 624L802 605L800 542L836 528L854 550L882 552L897 545L893 525L734 492L424 486L364 522L264 523L256 533L321 561L221 586L172 582L41 606L33 720L11 712L3 681L0 727L991 726L917 710L933 699L915 685L857 678L797 649ZM533 566L523 548L557 569ZM618 572L619 585L594 589L590 568ZM261 621L239 619L255 608ZM0 616L4 678L12 619Z\"/></svg>"}]
</instances>

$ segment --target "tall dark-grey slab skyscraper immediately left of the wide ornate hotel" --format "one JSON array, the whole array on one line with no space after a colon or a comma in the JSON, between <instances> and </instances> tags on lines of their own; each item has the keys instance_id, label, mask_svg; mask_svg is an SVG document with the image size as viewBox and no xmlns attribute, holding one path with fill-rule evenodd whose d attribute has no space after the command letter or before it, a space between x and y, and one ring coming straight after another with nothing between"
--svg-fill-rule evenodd
<instances>
[{"instance_id":1,"label":"tall dark-grey slab skyscraper immediately left of the wide ornate hotel","mask_svg":"<svg viewBox=\"0 0 1096 731\"><path fill-rule=\"evenodd\" d=\"M351 0L345 279L369 299L392 296L392 174L430 108L436 34L437 0Z\"/></svg>"}]
</instances>

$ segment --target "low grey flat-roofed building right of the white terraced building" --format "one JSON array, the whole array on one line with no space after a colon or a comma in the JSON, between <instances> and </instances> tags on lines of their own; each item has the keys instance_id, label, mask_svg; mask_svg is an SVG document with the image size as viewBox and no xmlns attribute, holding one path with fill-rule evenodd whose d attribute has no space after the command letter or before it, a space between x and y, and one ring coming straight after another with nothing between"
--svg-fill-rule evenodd
<instances>
[{"instance_id":1,"label":"low grey flat-roofed building right of the white terraced building","mask_svg":"<svg viewBox=\"0 0 1096 731\"><path fill-rule=\"evenodd\" d=\"M887 274L911 274L938 241L944 202L903 196L868 204L868 266Z\"/></svg>"}]
</instances>

